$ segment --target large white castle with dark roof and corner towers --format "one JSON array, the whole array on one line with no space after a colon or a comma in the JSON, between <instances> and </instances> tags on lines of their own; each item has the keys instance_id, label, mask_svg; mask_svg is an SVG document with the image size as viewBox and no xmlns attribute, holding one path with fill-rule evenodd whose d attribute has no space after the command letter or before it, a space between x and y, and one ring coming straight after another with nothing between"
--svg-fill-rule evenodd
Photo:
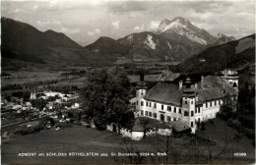
<instances>
[{"instance_id":1,"label":"large white castle with dark roof and corner towers","mask_svg":"<svg viewBox=\"0 0 256 165\"><path fill-rule=\"evenodd\" d=\"M234 87L224 77L208 76L193 85L188 78L185 84L157 83L151 89L140 82L136 87L136 110L139 116L161 122L184 122L194 133L198 122L216 117L225 95L236 98L238 77L235 81Z\"/></svg>"}]
</instances>

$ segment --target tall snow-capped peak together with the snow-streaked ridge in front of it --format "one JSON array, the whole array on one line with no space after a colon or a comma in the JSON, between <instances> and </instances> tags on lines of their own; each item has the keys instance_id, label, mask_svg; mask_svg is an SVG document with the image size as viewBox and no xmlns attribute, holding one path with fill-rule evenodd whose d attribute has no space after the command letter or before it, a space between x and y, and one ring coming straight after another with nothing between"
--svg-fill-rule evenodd
<instances>
[{"instance_id":1,"label":"tall snow-capped peak together with the snow-streaked ridge in front of it","mask_svg":"<svg viewBox=\"0 0 256 165\"><path fill-rule=\"evenodd\" d=\"M132 33L117 40L130 47L130 56L138 61L183 61L214 44L216 38L187 19L164 19L156 32Z\"/></svg>"}]
</instances>

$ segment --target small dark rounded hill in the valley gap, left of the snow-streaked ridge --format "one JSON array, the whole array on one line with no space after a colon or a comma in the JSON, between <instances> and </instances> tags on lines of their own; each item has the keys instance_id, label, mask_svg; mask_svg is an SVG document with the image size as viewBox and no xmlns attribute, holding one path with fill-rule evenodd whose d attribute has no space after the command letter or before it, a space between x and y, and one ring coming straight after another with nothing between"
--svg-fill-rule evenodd
<instances>
[{"instance_id":1,"label":"small dark rounded hill in the valley gap, left of the snow-streaked ridge","mask_svg":"<svg viewBox=\"0 0 256 165\"><path fill-rule=\"evenodd\" d=\"M129 47L122 45L116 40L101 36L94 43L85 46L86 49L101 53L101 54L115 54L115 55L126 55L129 53Z\"/></svg>"}]
</instances>

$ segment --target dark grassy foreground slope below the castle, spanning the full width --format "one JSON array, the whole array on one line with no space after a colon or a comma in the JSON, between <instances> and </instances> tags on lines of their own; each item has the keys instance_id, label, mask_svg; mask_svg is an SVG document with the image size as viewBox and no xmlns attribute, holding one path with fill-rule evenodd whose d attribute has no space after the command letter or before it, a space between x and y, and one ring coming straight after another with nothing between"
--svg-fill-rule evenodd
<instances>
[{"instance_id":1,"label":"dark grassy foreground slope below the castle, spanning the full width","mask_svg":"<svg viewBox=\"0 0 256 165\"><path fill-rule=\"evenodd\" d=\"M22 152L36 152L45 153L55 152L69 153L69 152L96 152L107 153L111 152L150 152L157 153L158 151L164 151L164 137L152 137L145 138L142 141L129 141L127 145L124 144L124 138L118 136L115 133L107 131L96 131L96 129L86 128L85 126L72 125L72 128L56 130L44 130L40 133L18 136L16 138L9 138L2 140L2 163L3 164L95 164L95 163L131 163L129 157L101 157L99 156L35 156L35 157L22 157L18 156ZM209 126L206 126L206 128ZM217 132L216 127L210 126L208 136L217 135L213 137L217 140L218 144L212 149L213 155L217 152L221 152L223 146L221 133ZM211 133L210 133L211 132ZM216 133L216 134L215 134ZM228 134L231 134L230 132ZM206 137L205 137L206 138ZM194 150L195 146L192 146L189 141L190 137L170 138L171 149L168 152L168 161L171 163L195 163ZM220 140L220 141L219 141ZM246 143L247 142L247 143ZM163 145L162 145L163 144ZM234 143L236 144L236 143ZM231 146L228 144L228 147ZM236 145L234 145L235 148ZM246 157L235 157L235 163L251 163L254 158L254 149L248 143L248 139L244 138L240 141L239 152L246 152ZM247 147L247 148L246 148ZM207 151L208 146L197 146L200 151ZM220 150L215 150L216 148ZM236 150L235 150L236 151ZM208 152L204 152L207 155ZM216 160L214 163L230 163L229 155L224 155ZM133 157L135 158L135 157ZM165 157L145 157L141 163L165 163ZM197 160L197 163L209 163L207 156L202 156ZM135 162L133 162L135 163Z\"/></svg>"}]
</instances>

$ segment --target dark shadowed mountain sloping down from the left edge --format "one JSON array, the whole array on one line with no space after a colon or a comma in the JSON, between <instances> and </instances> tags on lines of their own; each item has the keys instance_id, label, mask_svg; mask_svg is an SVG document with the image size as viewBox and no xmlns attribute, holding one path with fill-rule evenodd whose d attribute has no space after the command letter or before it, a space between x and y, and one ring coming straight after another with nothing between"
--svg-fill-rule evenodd
<instances>
[{"instance_id":1,"label":"dark shadowed mountain sloping down from the left edge","mask_svg":"<svg viewBox=\"0 0 256 165\"><path fill-rule=\"evenodd\" d=\"M31 62L68 61L67 52L82 48L64 33L53 30L39 31L29 24L1 18L2 57ZM59 49L56 54L55 49ZM60 51L62 49L62 51ZM62 53L63 52L63 53ZM74 53L73 53L74 54ZM68 55L70 56L70 55ZM79 57L74 57L78 60Z\"/></svg>"}]
</instances>

